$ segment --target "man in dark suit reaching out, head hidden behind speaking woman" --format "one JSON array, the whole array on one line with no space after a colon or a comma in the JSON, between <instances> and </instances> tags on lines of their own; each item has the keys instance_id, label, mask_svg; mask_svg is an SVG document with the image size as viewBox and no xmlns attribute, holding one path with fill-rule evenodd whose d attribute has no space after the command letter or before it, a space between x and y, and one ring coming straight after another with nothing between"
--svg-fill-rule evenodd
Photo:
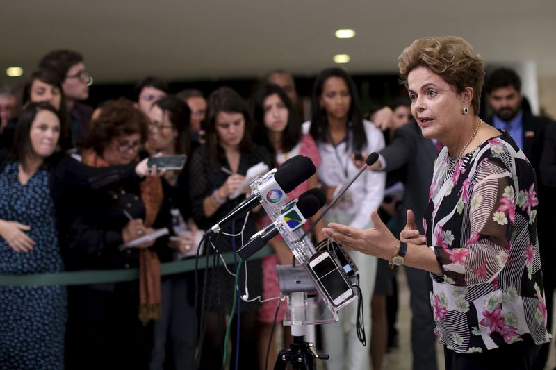
<instances>
[{"instance_id":1,"label":"man in dark suit reaching out, head hidden behind speaking woman","mask_svg":"<svg viewBox=\"0 0 556 370\"><path fill-rule=\"evenodd\" d=\"M413 210L416 227L421 234L423 215L429 202L436 143L426 139L415 121L398 128L391 143L379 153L379 160L371 167L375 171L394 171L404 167L405 191L403 196L402 225L407 210ZM406 166L407 165L407 166ZM436 337L434 319L430 307L429 292L432 290L430 275L423 270L404 267L411 290L411 351L414 370L436 369Z\"/></svg>"}]
</instances>

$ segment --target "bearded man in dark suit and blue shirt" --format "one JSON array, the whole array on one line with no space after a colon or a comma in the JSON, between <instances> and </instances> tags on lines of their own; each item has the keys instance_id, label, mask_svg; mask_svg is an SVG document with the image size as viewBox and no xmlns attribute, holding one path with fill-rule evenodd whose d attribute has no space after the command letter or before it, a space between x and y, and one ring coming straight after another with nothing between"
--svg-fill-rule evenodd
<instances>
[{"instance_id":1,"label":"bearded man in dark suit and blue shirt","mask_svg":"<svg viewBox=\"0 0 556 370\"><path fill-rule=\"evenodd\" d=\"M546 327L552 331L553 289L555 287L555 273L553 261L555 253L550 238L550 228L553 227L553 215L550 214L550 204L554 201L553 192L543 185L543 169L541 155L543 153L545 130L550 120L536 117L523 110L523 94L521 79L513 69L500 68L491 72L484 83L484 93L488 101L492 117L485 121L492 126L507 131L514 138L519 148L527 156L537 174L539 187L539 209L537 210L537 233L539 251L544 278L544 294L548 319ZM543 344L539 357L533 369L544 369L550 344Z\"/></svg>"}]
</instances>

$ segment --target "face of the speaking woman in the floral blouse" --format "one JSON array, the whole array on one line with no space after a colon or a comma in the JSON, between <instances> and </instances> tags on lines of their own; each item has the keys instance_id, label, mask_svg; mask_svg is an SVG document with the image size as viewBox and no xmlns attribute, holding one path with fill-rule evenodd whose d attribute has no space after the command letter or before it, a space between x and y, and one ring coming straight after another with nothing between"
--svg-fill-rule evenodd
<instances>
[{"instance_id":1,"label":"face of the speaking woman in the floral blouse","mask_svg":"<svg viewBox=\"0 0 556 370\"><path fill-rule=\"evenodd\" d=\"M417 67L407 76L411 114L424 137L441 141L447 135L459 135L457 130L464 119L464 104L460 94L438 74L425 67Z\"/></svg>"}]
</instances>

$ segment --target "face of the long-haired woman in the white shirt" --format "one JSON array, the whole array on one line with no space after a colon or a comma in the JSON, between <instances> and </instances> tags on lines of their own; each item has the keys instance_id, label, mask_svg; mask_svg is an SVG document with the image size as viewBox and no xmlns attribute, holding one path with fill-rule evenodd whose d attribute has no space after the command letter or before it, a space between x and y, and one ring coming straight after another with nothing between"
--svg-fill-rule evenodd
<instances>
[{"instance_id":1,"label":"face of the long-haired woman in the white shirt","mask_svg":"<svg viewBox=\"0 0 556 370\"><path fill-rule=\"evenodd\" d=\"M347 119L352 105L350 88L341 77L332 76L322 84L319 103L329 117Z\"/></svg>"}]
</instances>

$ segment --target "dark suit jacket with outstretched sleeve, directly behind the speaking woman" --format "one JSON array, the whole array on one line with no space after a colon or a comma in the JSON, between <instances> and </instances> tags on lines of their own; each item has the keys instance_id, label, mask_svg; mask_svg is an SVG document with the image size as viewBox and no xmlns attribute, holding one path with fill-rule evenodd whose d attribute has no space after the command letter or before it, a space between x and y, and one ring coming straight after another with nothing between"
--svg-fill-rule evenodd
<instances>
[{"instance_id":1,"label":"dark suit jacket with outstretched sleeve, directly behind the speaking woman","mask_svg":"<svg viewBox=\"0 0 556 370\"><path fill-rule=\"evenodd\" d=\"M424 233L422 221L429 203L430 183L436 158L436 148L432 140L423 137L418 124L411 121L395 131L391 144L382 149L380 155L386 160L384 171L393 171L407 165L402 226L406 222L405 210L411 209L420 233Z\"/></svg>"}]
</instances>

